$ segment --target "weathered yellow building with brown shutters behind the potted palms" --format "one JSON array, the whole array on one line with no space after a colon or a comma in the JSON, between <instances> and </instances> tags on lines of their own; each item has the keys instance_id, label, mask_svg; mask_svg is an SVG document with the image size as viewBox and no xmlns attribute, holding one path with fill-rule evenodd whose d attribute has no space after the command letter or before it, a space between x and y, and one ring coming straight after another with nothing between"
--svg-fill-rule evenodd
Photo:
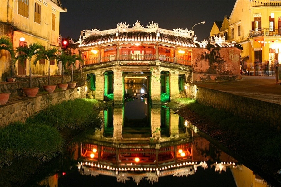
<instances>
[{"instance_id":1,"label":"weathered yellow building with brown shutters behind the potted palms","mask_svg":"<svg viewBox=\"0 0 281 187\"><path fill-rule=\"evenodd\" d=\"M9 36L14 49L18 46L39 42L46 49L60 46L60 12L66 12L60 0L2 0L0 6L0 37ZM28 76L29 63L12 67L7 53L1 51L1 80L9 75ZM33 63L32 63L33 66ZM47 75L48 63L40 60L32 67L34 75ZM58 73L57 65L51 62L50 74Z\"/></svg>"}]
</instances>

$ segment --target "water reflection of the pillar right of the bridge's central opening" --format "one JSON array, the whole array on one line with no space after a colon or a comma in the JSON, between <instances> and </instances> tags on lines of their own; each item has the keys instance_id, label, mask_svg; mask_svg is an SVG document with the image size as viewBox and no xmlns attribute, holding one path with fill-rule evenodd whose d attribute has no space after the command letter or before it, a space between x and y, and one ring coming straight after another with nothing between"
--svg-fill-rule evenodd
<instances>
[{"instance_id":1,"label":"water reflection of the pillar right of the bridge's central opening","mask_svg":"<svg viewBox=\"0 0 281 187\"><path fill-rule=\"evenodd\" d=\"M161 108L151 108L151 134L154 140L161 138Z\"/></svg>"}]
</instances>

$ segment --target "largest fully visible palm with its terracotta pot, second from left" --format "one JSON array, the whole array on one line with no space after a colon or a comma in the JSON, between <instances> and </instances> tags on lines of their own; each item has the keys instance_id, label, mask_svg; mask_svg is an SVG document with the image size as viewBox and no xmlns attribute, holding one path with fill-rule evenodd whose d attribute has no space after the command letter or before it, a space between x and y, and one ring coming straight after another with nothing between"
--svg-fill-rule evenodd
<instances>
[{"instance_id":1,"label":"largest fully visible palm with its terracotta pot, second from left","mask_svg":"<svg viewBox=\"0 0 281 187\"><path fill-rule=\"evenodd\" d=\"M27 97L35 97L39 91L39 88L32 87L32 72L31 72L31 61L33 57L37 57L40 54L40 50L43 49L43 46L38 42L29 44L28 46L19 46L16 48L16 54L18 55L14 59L14 63L19 60L19 63L23 62L25 59L29 61L29 86L28 88L22 88L23 93ZM36 60L34 60L34 64L36 64Z\"/></svg>"}]
</instances>

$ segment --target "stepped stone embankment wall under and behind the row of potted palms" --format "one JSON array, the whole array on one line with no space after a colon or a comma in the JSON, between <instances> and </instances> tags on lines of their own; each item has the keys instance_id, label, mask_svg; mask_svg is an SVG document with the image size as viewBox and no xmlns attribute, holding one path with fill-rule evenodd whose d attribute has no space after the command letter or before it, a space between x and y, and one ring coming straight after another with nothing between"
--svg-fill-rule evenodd
<instances>
[{"instance_id":1,"label":"stepped stone embankment wall under and behind the row of potted palms","mask_svg":"<svg viewBox=\"0 0 281 187\"><path fill-rule=\"evenodd\" d=\"M60 83L61 79L61 76L52 76L51 84ZM64 80L65 82L69 81L70 76L65 76ZM28 117L49 105L76 98L86 98L86 85L82 81L78 82L73 89L55 90L54 93L40 93L44 91L43 85L47 85L48 77L32 78L33 86L40 87L40 90L36 97L28 98L22 93L22 88L28 87L28 81L28 77L17 77L16 82L1 83L1 92L11 93L11 95L7 104L0 107L0 127L8 125L10 122L25 122Z\"/></svg>"}]
</instances>

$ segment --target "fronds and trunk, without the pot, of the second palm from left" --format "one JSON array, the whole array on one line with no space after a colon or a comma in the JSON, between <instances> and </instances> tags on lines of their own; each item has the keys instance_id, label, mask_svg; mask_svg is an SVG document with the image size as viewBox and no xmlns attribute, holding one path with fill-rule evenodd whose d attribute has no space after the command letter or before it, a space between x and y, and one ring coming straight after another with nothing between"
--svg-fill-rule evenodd
<instances>
[{"instance_id":1,"label":"fronds and trunk, without the pot, of the second palm from left","mask_svg":"<svg viewBox=\"0 0 281 187\"><path fill-rule=\"evenodd\" d=\"M16 48L16 54L18 55L14 59L14 63L19 60L19 62L23 62L25 59L29 60L29 88L32 88L31 82L31 59L32 57L37 57L40 54L40 50L43 49L43 46L38 42L34 42L29 44L28 46L19 46ZM36 64L36 60L34 60L34 64Z\"/></svg>"}]
</instances>

